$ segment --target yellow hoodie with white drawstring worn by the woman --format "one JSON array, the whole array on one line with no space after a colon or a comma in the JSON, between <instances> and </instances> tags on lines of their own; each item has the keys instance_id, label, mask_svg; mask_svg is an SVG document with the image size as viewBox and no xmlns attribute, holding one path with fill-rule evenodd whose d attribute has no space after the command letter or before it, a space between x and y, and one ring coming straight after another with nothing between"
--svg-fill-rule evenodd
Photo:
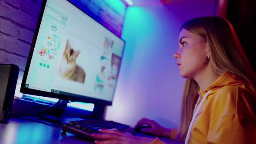
<instances>
[{"instance_id":1,"label":"yellow hoodie with white drawstring worn by the woman","mask_svg":"<svg viewBox=\"0 0 256 144\"><path fill-rule=\"evenodd\" d=\"M256 97L248 82L224 72L204 92L211 91L200 107L189 144L256 144ZM198 105L196 105L197 108ZM172 130L171 139L175 139ZM152 144L165 144L156 138Z\"/></svg>"}]
</instances>

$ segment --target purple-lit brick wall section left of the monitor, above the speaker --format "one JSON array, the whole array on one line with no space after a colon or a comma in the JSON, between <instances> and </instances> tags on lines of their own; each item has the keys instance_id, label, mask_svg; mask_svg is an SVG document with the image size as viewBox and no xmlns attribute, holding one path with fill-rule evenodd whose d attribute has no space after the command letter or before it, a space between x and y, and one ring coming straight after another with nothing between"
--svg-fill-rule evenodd
<instances>
[{"instance_id":1,"label":"purple-lit brick wall section left of the monitor, above the speaker","mask_svg":"<svg viewBox=\"0 0 256 144\"><path fill-rule=\"evenodd\" d=\"M33 7L33 12L26 10L29 7ZM18 65L20 81L40 7L30 0L0 0L0 63Z\"/></svg>"}]
</instances>

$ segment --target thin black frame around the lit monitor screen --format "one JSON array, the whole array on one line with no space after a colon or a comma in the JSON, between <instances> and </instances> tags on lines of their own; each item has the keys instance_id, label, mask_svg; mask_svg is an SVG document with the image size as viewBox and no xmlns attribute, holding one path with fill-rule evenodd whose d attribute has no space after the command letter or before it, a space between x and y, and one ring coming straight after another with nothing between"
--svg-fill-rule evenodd
<instances>
[{"instance_id":1,"label":"thin black frame around the lit monitor screen","mask_svg":"<svg viewBox=\"0 0 256 144\"><path fill-rule=\"evenodd\" d=\"M65 0L65 1L71 3L70 0ZM86 102L86 103L93 103L93 104L96 104L96 105L112 105L112 102L113 102L113 99L114 99L114 96L115 96L116 86L118 84L118 78L117 78L117 82L115 84L112 101L106 101L106 100L102 100L102 99L98 99L98 98L91 98L91 97L83 96L83 95L80 95L80 97L78 97L78 96L71 96L71 95L55 94L55 93L52 93L52 92L44 92L44 91L31 89L31 88L25 88L26 79L27 79L27 76L28 76L29 68L30 68L30 63L31 63L33 52L34 52L35 45L36 45L36 39L37 39L37 36L38 36L38 33L39 33L40 24L41 24L42 18L43 18L43 12L44 12L45 7L46 7L46 2L47 2L47 0L43 0L42 7L41 7L41 10L40 10L40 13L39 13L39 17L38 17L38 20L37 20L37 23L36 23L36 29L35 29L35 32L34 32L34 36L33 36L31 46L30 46L30 52L29 52L28 59L27 59L27 62L26 62L26 67L25 67L25 70L24 70L23 79L22 79L22 83L21 83L21 87L20 87L20 92L23 93L23 94L28 94L28 95L37 95L37 96L43 96L43 97L49 97L49 98L58 98L58 99L69 100L69 101L80 101L80 102ZM73 3L71 3L71 4L73 6L75 6ZM77 9L81 10L79 7L77 7L77 6L75 6L75 7ZM85 13L83 10L81 10L81 12ZM125 43L126 43L125 40L122 39L120 36L118 36L116 33L112 32L110 29L108 29L102 23L99 23L97 20L93 19L92 16L88 15L87 13L85 13L85 14L87 16L89 16L92 20L96 21L101 26L105 27L105 29L107 29L109 32L111 32L112 34L114 34L115 36L117 36L119 39L121 39L124 42L124 48L123 48L123 51L122 51L120 66L119 66L119 69L118 69L118 77L119 77L119 73L120 73L120 69L121 69L121 63L122 63L122 59L123 59L124 51L125 51Z\"/></svg>"}]
</instances>

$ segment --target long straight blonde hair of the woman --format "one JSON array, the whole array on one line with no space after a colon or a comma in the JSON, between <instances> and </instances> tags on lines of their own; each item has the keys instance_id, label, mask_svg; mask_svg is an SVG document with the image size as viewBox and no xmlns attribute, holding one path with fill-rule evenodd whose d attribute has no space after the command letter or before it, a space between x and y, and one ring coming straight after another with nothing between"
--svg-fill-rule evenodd
<instances>
[{"instance_id":1,"label":"long straight blonde hair of the woman","mask_svg":"<svg viewBox=\"0 0 256 144\"><path fill-rule=\"evenodd\" d=\"M201 36L208 42L210 58L217 74L221 75L228 71L240 75L249 82L255 93L255 73L233 27L227 20L218 16L194 18L184 23L181 29ZM176 135L178 140L186 138L198 89L199 86L194 79L186 79L181 106L181 124Z\"/></svg>"}]
</instances>

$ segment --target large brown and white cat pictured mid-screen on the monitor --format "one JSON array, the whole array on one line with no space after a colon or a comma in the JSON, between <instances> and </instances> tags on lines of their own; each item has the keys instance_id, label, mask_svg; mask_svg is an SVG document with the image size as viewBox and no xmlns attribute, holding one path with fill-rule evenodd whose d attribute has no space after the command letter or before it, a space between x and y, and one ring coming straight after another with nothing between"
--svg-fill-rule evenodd
<instances>
[{"instance_id":1,"label":"large brown and white cat pictured mid-screen on the monitor","mask_svg":"<svg viewBox=\"0 0 256 144\"><path fill-rule=\"evenodd\" d=\"M65 79L77 82L85 82L84 70L76 65L76 59L80 54L80 50L73 50L69 39L66 41L66 48L63 52L62 61L59 67L59 74Z\"/></svg>"}]
</instances>

